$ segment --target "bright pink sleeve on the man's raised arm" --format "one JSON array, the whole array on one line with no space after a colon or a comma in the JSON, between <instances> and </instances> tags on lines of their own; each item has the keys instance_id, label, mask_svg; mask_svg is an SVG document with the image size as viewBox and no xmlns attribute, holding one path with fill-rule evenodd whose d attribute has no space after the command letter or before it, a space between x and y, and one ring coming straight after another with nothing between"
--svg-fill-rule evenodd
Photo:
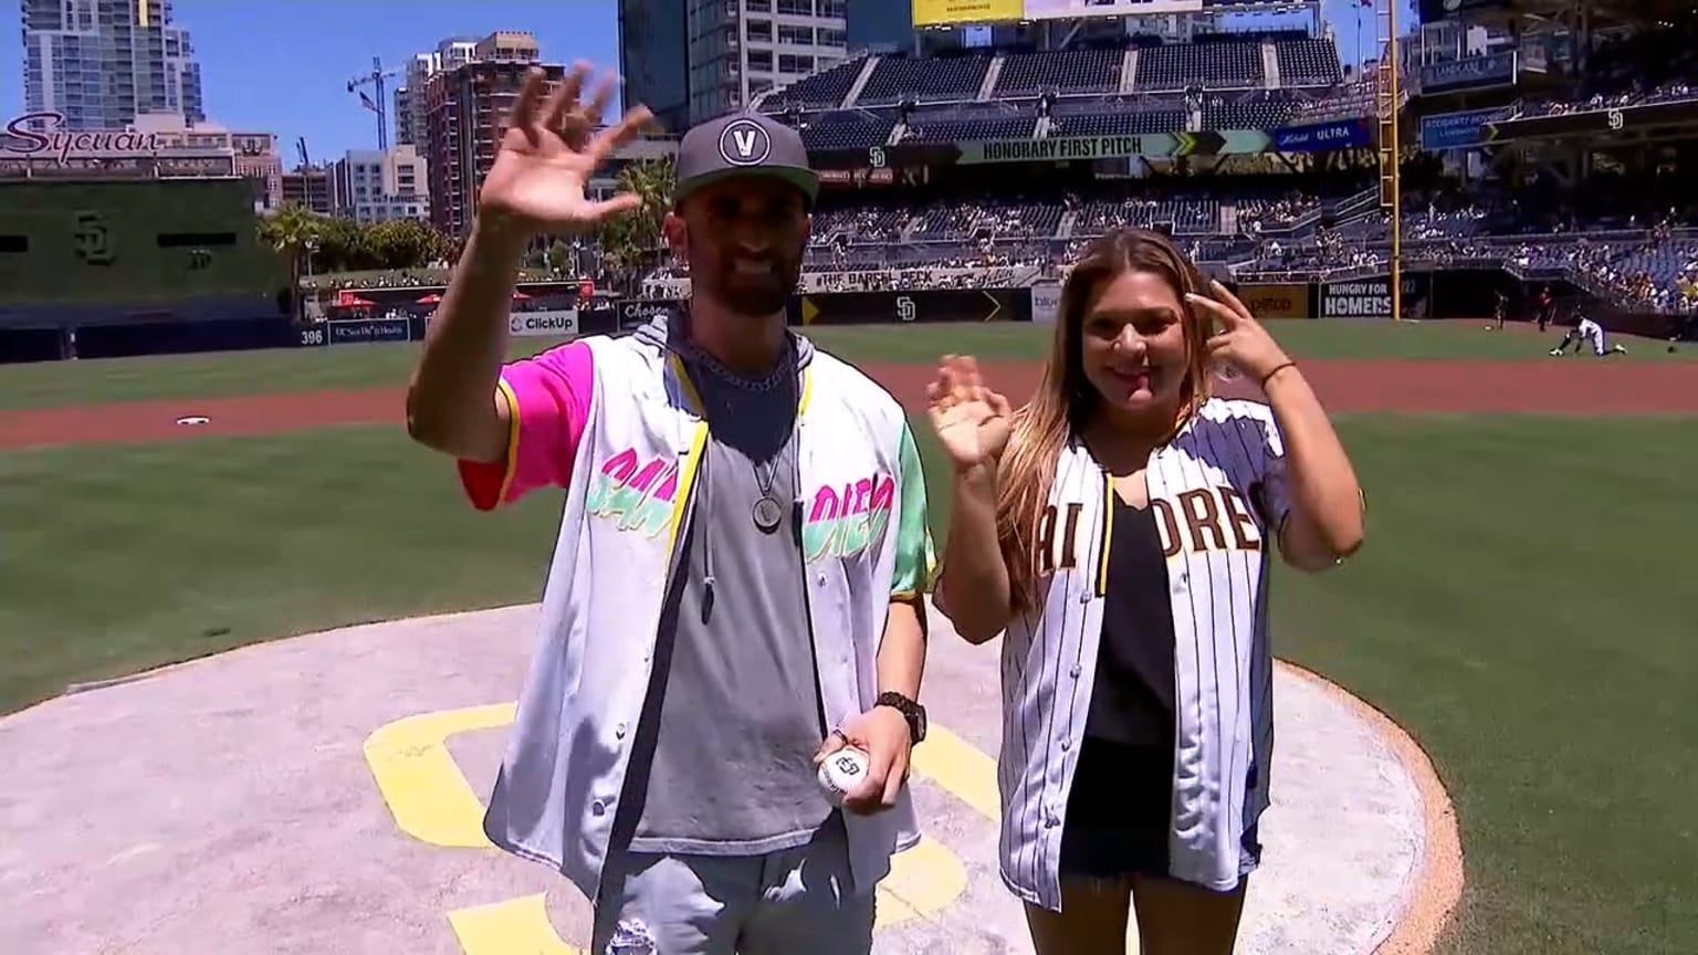
<instances>
[{"instance_id":1,"label":"bright pink sleeve on the man's raised arm","mask_svg":"<svg viewBox=\"0 0 1698 955\"><path fill-rule=\"evenodd\" d=\"M501 369L511 430L504 461L460 461L460 484L477 510L509 505L537 488L564 488L596 387L589 345L572 342Z\"/></svg>"}]
</instances>

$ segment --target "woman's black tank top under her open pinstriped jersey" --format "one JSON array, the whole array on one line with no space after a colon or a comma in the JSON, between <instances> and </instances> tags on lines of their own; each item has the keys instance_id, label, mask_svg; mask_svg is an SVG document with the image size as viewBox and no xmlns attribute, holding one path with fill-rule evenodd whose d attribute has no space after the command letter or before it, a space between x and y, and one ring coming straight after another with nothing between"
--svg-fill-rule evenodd
<instances>
[{"instance_id":1,"label":"woman's black tank top under her open pinstriped jersey","mask_svg":"<svg viewBox=\"0 0 1698 955\"><path fill-rule=\"evenodd\" d=\"M1109 579L1097 683L1085 734L1124 746L1173 746L1173 607L1151 508L1109 491Z\"/></svg>"}]
</instances>

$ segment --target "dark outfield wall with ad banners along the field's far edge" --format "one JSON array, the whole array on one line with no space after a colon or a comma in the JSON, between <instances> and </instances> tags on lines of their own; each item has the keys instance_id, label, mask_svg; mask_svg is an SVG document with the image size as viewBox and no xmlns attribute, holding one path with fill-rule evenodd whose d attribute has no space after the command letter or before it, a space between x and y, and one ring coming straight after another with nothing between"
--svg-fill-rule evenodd
<instances>
[{"instance_id":1,"label":"dark outfield wall with ad banners along the field's far edge","mask_svg":"<svg viewBox=\"0 0 1698 955\"><path fill-rule=\"evenodd\" d=\"M1528 284L1537 287L1538 284ZM1555 282L1552 282L1555 285ZM1503 272L1448 270L1406 274L1404 318L1491 316L1498 292L1511 296L1511 318L1528 318L1530 289ZM365 294L365 292L362 292ZM408 301L423 297L406 289ZM1391 316L1391 282L1362 277L1338 282L1258 282L1238 285L1238 294L1265 321L1384 321ZM391 296L394 299L394 296ZM576 292L526 299L511 314L514 336L569 338L630 331L654 314L679 308L676 299L579 301ZM820 292L796 296L790 323L903 325L903 323L1049 323L1060 306L1060 285L1019 289L929 289L910 292ZM1628 313L1596 314L1608 330L1667 336L1669 316ZM1572 321L1562 316L1559 323ZM384 318L333 319L297 325L287 318L228 318L216 321L144 321L80 328L0 328L0 364L61 359L119 359L183 352L234 352L251 348L328 348L379 342L419 342L430 314L423 306L397 309ZM1690 330L1688 330L1690 333Z\"/></svg>"}]
</instances>

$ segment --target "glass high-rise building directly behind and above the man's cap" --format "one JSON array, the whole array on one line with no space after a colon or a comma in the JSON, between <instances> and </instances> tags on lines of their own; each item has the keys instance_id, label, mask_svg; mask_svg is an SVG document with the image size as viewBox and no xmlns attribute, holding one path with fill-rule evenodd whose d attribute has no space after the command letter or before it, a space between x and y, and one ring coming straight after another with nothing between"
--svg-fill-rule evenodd
<instances>
[{"instance_id":1,"label":"glass high-rise building directly behind and above the man's cap","mask_svg":"<svg viewBox=\"0 0 1698 955\"><path fill-rule=\"evenodd\" d=\"M625 102L645 104L671 133L742 109L847 59L847 0L620 0Z\"/></svg>"}]
</instances>

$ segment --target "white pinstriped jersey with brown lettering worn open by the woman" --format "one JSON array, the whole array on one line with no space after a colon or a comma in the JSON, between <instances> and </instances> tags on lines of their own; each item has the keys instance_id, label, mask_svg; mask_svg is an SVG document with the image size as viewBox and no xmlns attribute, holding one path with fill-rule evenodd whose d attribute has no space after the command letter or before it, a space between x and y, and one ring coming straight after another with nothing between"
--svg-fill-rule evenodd
<instances>
[{"instance_id":1,"label":"white pinstriped jersey with brown lettering worn open by the woman","mask_svg":"<svg viewBox=\"0 0 1698 955\"><path fill-rule=\"evenodd\" d=\"M1267 404L1211 399L1146 471L1173 610L1170 873L1217 890L1255 867L1245 833L1268 804L1267 581L1290 511L1284 454ZM1097 675L1112 493L1083 442L1070 442L1037 528L1041 600L1002 644L1002 879L1046 909L1061 907L1061 831Z\"/></svg>"}]
</instances>

